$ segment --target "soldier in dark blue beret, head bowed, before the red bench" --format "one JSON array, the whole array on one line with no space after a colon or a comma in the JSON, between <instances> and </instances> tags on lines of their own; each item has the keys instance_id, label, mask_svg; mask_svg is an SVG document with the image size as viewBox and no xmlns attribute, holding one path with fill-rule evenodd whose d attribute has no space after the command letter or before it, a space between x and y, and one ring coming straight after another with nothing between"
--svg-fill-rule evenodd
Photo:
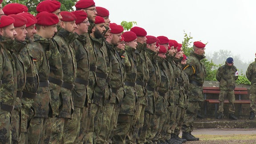
<instances>
[{"instance_id":1,"label":"soldier in dark blue beret, head bowed, before the red bench","mask_svg":"<svg viewBox=\"0 0 256 144\"><path fill-rule=\"evenodd\" d=\"M224 106L224 98L228 97L228 113L229 119L237 120L235 113L235 94L234 89L236 87L236 80L238 78L238 72L236 67L234 66L234 60L232 57L228 57L225 64L218 68L216 72L216 80L220 82L220 95L219 95L219 109L217 119L221 119L224 117L223 114L223 106Z\"/></svg>"}]
</instances>

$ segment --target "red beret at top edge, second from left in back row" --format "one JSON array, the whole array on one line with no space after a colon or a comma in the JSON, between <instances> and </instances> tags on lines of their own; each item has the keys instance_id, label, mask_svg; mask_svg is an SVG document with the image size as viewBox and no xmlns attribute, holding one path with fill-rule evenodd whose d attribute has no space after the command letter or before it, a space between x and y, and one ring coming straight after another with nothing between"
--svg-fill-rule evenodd
<instances>
[{"instance_id":1,"label":"red beret at top edge, second from left in back row","mask_svg":"<svg viewBox=\"0 0 256 144\"><path fill-rule=\"evenodd\" d=\"M39 12L55 12L60 9L60 2L57 0L44 0L36 6L36 11Z\"/></svg>"}]
</instances>

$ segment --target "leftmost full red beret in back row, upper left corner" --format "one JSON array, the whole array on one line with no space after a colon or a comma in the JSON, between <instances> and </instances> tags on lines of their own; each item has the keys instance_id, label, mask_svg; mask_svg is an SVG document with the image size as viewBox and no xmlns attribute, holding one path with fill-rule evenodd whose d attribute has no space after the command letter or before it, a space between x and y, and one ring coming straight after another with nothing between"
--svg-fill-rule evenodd
<instances>
[{"instance_id":1,"label":"leftmost full red beret in back row, upper left corner","mask_svg":"<svg viewBox=\"0 0 256 144\"><path fill-rule=\"evenodd\" d=\"M20 12L28 12L28 8L23 4L11 3L4 6L3 11L8 16L12 14L16 15Z\"/></svg>"}]
</instances>

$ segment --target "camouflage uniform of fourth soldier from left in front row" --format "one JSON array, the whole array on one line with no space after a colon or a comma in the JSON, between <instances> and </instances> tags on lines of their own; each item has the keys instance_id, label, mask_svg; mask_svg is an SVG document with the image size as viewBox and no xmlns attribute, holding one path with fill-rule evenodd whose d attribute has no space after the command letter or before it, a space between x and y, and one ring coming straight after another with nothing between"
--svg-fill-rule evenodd
<instances>
[{"instance_id":1,"label":"camouflage uniform of fourth soldier from left in front row","mask_svg":"<svg viewBox=\"0 0 256 144\"><path fill-rule=\"evenodd\" d=\"M34 42L28 44L28 49L33 57L36 69L39 76L39 88L37 95L34 98L32 107L35 110L35 116L30 121L28 128L28 143L35 144L44 140L45 121L48 118L51 93L49 86L49 62L46 56L46 51L49 51L50 40L44 39L37 34L34 35Z\"/></svg>"}]
</instances>

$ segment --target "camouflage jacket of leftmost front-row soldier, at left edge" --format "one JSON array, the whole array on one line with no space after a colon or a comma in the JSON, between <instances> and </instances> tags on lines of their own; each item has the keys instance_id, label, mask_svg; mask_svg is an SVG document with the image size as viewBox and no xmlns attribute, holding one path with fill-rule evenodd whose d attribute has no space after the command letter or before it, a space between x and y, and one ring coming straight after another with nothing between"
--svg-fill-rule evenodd
<instances>
[{"instance_id":1,"label":"camouflage jacket of leftmost front-row soldier, at left edge","mask_svg":"<svg viewBox=\"0 0 256 144\"><path fill-rule=\"evenodd\" d=\"M17 92L17 78L14 59L8 47L12 45L13 40L0 36L0 64L1 64L1 80L0 100L1 104L15 105ZM3 110L1 110L3 112Z\"/></svg>"}]
</instances>

